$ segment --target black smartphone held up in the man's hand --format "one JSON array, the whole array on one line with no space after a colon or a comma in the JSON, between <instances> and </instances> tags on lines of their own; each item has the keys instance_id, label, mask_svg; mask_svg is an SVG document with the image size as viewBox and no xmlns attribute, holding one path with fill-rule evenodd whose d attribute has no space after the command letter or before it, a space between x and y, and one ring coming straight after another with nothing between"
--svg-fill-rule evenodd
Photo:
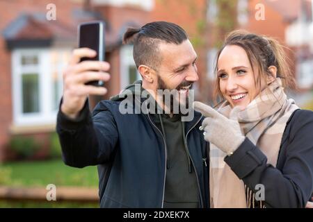
<instances>
[{"instance_id":1,"label":"black smartphone held up in the man's hand","mask_svg":"<svg viewBox=\"0 0 313 222\"><path fill-rule=\"evenodd\" d=\"M97 52L94 58L81 58L81 62L85 60L104 61L105 42L104 42L105 23L101 21L85 22L79 24L79 48L87 47ZM95 80L86 83L86 85L104 86L102 80Z\"/></svg>"}]
</instances>

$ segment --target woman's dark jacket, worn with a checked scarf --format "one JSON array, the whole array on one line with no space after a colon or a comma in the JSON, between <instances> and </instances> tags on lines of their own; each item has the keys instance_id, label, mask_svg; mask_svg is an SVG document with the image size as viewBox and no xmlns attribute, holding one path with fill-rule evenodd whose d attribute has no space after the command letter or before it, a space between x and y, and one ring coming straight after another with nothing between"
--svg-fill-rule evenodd
<instances>
[{"instance_id":1,"label":"woman's dark jacket, worn with a checked scarf","mask_svg":"<svg viewBox=\"0 0 313 222\"><path fill-rule=\"evenodd\" d=\"M247 138L225 162L250 189L264 185L266 207L305 207L313 191L313 112L289 118L276 168Z\"/></svg>"}]
</instances>

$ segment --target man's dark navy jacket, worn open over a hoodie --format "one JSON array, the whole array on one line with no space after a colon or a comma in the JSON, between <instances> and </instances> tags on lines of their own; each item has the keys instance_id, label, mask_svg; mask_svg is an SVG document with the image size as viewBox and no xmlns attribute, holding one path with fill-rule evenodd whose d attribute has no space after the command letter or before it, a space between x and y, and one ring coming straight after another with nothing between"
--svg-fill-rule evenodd
<instances>
[{"instance_id":1,"label":"man's dark navy jacket, worn open over a hoodie","mask_svg":"<svg viewBox=\"0 0 313 222\"><path fill-rule=\"evenodd\" d=\"M166 178L163 136L150 114L121 114L120 101L101 101L93 118L88 103L79 119L58 112L63 160L72 167L98 165L100 207L162 207ZM209 205L206 145L201 114L186 122L186 142L195 167L202 207Z\"/></svg>"}]
</instances>

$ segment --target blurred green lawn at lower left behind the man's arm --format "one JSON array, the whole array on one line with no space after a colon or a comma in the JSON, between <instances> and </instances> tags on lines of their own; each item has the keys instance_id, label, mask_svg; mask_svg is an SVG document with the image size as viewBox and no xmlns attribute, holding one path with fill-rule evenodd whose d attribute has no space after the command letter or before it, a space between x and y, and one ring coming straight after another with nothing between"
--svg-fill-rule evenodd
<instances>
[{"instance_id":1,"label":"blurred green lawn at lower left behind the man's arm","mask_svg":"<svg viewBox=\"0 0 313 222\"><path fill-rule=\"evenodd\" d=\"M97 167L76 169L66 166L62 160L8 162L0 165L0 186L47 187L49 184L56 187L97 188ZM0 200L2 207L99 207L99 203Z\"/></svg>"}]
</instances>

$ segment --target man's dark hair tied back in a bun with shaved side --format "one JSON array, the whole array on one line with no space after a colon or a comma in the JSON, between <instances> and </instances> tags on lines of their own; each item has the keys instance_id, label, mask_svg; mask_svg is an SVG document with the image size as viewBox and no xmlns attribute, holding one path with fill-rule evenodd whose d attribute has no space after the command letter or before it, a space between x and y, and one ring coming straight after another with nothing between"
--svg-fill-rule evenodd
<instances>
[{"instance_id":1,"label":"man's dark hair tied back in a bun with shaved side","mask_svg":"<svg viewBox=\"0 0 313 222\"><path fill-rule=\"evenodd\" d=\"M181 44L188 36L184 29L170 22L151 22L141 28L128 28L123 43L134 43L133 56L138 68L147 65L158 70L162 58L159 43Z\"/></svg>"}]
</instances>

